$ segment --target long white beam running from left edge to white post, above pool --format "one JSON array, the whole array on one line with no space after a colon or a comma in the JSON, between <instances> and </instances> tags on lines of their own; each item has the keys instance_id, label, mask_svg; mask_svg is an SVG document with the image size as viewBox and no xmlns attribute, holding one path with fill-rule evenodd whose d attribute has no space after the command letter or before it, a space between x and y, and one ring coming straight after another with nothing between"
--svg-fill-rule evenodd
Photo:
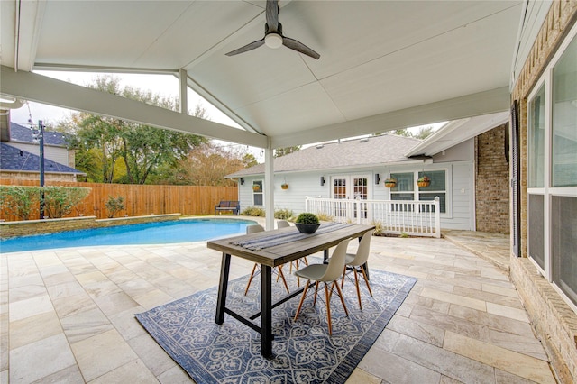
<instances>
[{"instance_id":1,"label":"long white beam running from left edge to white post, above pool","mask_svg":"<svg viewBox=\"0 0 577 384\"><path fill-rule=\"evenodd\" d=\"M180 114L154 105L77 86L32 72L15 72L2 66L0 93L47 105L101 114L184 133L194 133L225 142L268 148L266 136L221 123Z\"/></svg>"}]
</instances>

